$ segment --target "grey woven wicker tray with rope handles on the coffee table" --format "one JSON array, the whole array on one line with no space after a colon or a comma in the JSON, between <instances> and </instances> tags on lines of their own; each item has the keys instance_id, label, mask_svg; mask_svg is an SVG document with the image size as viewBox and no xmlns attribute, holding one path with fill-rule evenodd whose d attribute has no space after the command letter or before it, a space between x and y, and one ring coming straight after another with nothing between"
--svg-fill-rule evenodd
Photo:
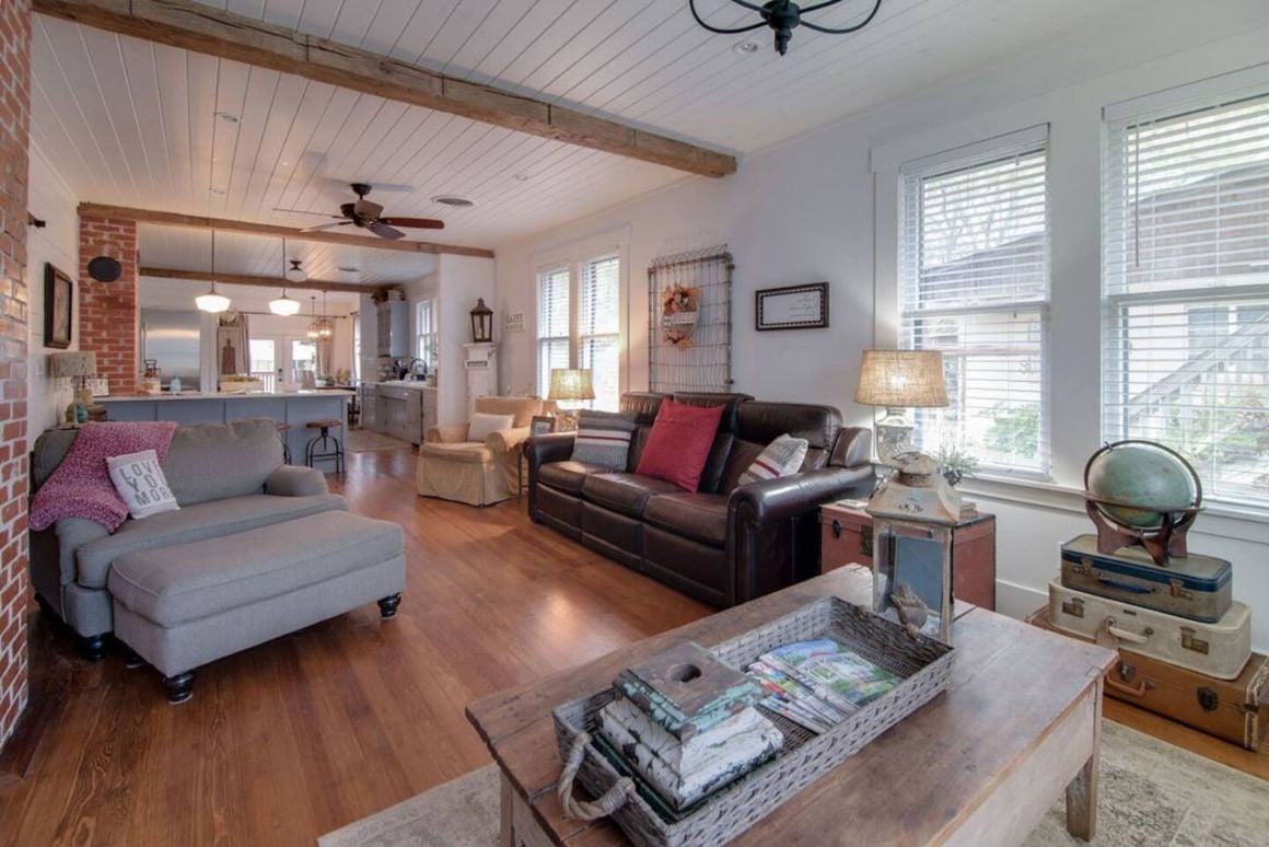
<instances>
[{"instance_id":1,"label":"grey woven wicker tray with rope handles on the coffee table","mask_svg":"<svg viewBox=\"0 0 1269 847\"><path fill-rule=\"evenodd\" d=\"M753 827L868 742L901 721L947 688L952 648L925 636L911 636L883 617L836 597L826 597L750 630L711 650L722 662L744 669L768 650L817 637L830 637L901 677L904 682L822 735L763 710L784 733L782 753L721 789L675 819L652 790L605 756L602 742L585 744L576 784L599 797L623 777L634 777L637 791L612 811L613 820L636 844L680 847L720 844ZM567 762L579 735L589 739L595 715L615 692L610 688L553 710L561 761ZM598 735L596 735L598 737ZM570 786L565 785L567 790Z\"/></svg>"}]
</instances>

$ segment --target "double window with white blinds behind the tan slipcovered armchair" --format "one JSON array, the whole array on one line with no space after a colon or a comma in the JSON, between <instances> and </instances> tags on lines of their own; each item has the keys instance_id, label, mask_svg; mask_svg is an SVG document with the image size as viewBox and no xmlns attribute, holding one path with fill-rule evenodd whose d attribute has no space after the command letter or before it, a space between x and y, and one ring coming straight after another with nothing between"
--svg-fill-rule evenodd
<instances>
[{"instance_id":1,"label":"double window with white blinds behind the tan slipcovered armchair","mask_svg":"<svg viewBox=\"0 0 1269 847\"><path fill-rule=\"evenodd\" d=\"M538 392L552 368L590 368L588 408L617 410L621 397L621 259L603 255L538 273Z\"/></svg>"}]
</instances>

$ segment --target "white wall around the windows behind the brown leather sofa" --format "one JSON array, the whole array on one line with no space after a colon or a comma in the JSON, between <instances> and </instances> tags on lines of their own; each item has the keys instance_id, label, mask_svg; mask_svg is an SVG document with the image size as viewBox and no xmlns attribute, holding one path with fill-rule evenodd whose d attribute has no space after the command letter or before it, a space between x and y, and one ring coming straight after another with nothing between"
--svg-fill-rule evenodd
<instances>
[{"instance_id":1,"label":"white wall around the windows behind the brown leather sofa","mask_svg":"<svg viewBox=\"0 0 1269 847\"><path fill-rule=\"evenodd\" d=\"M1075 489L1099 433L1100 110L1117 100L1265 61L1269 4L1160 0L1018 61L810 137L746 156L722 180L688 179L584 221L497 245L497 311L523 311L528 331L503 339L503 383L534 383L533 257L599 232L629 232L627 385L647 385L647 282L661 254L727 243L735 257L736 389L768 400L829 403L849 423L873 410L850 401L859 353L884 345L895 309L897 182L872 156L898 163L1037 123L1051 124L1055 328L1051 392L1056 485L967 484L999 516L999 602L1027 613L1044 601L1057 545L1091 528ZM754 330L754 291L827 279L830 328ZM876 314L876 324L874 324ZM879 333L877 333L879 328ZM1197 552L1235 563L1235 596L1264 608L1254 643L1269 648L1269 516L1204 514Z\"/></svg>"}]
</instances>

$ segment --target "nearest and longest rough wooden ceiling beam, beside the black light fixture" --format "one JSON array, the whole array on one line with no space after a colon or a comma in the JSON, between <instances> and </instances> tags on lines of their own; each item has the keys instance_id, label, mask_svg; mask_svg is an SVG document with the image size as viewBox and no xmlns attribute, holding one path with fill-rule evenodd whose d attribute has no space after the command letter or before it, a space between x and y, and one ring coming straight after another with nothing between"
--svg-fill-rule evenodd
<instances>
[{"instance_id":1,"label":"nearest and longest rough wooden ceiling beam, beside the black light fixture","mask_svg":"<svg viewBox=\"0 0 1269 847\"><path fill-rule=\"evenodd\" d=\"M41 14L702 177L727 154L189 0L34 0Z\"/></svg>"}]
</instances>

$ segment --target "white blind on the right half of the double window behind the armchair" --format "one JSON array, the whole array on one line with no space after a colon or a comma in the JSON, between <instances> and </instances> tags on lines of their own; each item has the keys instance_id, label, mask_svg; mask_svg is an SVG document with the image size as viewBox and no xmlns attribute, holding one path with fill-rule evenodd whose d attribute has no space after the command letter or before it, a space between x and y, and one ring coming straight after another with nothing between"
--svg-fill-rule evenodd
<instances>
[{"instance_id":1,"label":"white blind on the right half of the double window behind the armchair","mask_svg":"<svg viewBox=\"0 0 1269 847\"><path fill-rule=\"evenodd\" d=\"M621 387L621 262L604 257L581 265L577 367L590 368L595 409L615 410Z\"/></svg>"}]
</instances>

